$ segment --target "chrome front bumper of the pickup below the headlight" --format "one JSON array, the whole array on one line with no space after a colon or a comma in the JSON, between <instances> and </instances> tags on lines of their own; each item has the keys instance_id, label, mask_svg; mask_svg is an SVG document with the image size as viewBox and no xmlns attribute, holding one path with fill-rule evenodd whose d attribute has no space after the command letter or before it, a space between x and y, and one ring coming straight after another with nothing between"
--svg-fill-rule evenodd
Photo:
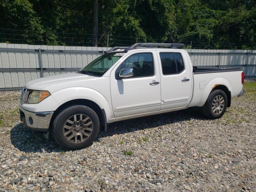
<instances>
[{"instance_id":1,"label":"chrome front bumper of the pickup below the headlight","mask_svg":"<svg viewBox=\"0 0 256 192\"><path fill-rule=\"evenodd\" d=\"M53 115L53 111L50 112L30 112L20 107L20 119L26 126L33 130L47 132L50 126L50 121Z\"/></svg>"}]
</instances>

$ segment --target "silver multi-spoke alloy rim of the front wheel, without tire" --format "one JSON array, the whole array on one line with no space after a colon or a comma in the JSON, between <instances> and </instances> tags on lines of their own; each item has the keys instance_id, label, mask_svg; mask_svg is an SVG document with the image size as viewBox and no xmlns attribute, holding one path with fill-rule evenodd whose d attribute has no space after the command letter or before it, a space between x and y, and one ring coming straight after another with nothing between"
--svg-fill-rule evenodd
<instances>
[{"instance_id":1,"label":"silver multi-spoke alloy rim of the front wheel, without tire","mask_svg":"<svg viewBox=\"0 0 256 192\"><path fill-rule=\"evenodd\" d=\"M75 114L66 120L63 134L69 142L84 142L92 133L93 124L90 117L85 114Z\"/></svg>"}]
</instances>

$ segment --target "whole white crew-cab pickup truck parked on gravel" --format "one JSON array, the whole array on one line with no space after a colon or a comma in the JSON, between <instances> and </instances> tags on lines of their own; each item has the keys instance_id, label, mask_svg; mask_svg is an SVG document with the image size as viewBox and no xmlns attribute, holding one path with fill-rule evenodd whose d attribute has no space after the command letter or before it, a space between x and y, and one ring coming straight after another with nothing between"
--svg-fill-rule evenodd
<instances>
[{"instance_id":1,"label":"whole white crew-cab pickup truck parked on gravel","mask_svg":"<svg viewBox=\"0 0 256 192\"><path fill-rule=\"evenodd\" d=\"M193 68L182 45L114 47L76 73L32 80L20 96L21 120L46 137L51 130L60 146L74 150L115 121L193 106L220 118L244 93L244 73Z\"/></svg>"}]
</instances>

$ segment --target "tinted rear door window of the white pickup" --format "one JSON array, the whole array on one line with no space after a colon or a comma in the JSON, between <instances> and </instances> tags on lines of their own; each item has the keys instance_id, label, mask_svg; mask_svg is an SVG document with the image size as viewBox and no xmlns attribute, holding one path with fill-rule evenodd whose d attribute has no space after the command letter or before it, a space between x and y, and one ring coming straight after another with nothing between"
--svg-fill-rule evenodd
<instances>
[{"instance_id":1,"label":"tinted rear door window of the white pickup","mask_svg":"<svg viewBox=\"0 0 256 192\"><path fill-rule=\"evenodd\" d=\"M160 53L160 59L164 75L178 74L184 70L180 53Z\"/></svg>"}]
</instances>

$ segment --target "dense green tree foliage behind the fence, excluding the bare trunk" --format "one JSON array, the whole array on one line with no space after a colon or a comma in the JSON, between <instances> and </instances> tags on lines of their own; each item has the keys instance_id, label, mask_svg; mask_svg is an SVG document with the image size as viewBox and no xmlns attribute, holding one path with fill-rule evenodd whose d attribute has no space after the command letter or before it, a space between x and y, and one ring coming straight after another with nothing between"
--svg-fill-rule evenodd
<instances>
[{"instance_id":1,"label":"dense green tree foliage behind the fence, excluding the bare trunk","mask_svg":"<svg viewBox=\"0 0 256 192\"><path fill-rule=\"evenodd\" d=\"M92 0L2 0L0 42L89 46ZM250 0L98 0L98 46L181 42L256 49Z\"/></svg>"}]
</instances>

